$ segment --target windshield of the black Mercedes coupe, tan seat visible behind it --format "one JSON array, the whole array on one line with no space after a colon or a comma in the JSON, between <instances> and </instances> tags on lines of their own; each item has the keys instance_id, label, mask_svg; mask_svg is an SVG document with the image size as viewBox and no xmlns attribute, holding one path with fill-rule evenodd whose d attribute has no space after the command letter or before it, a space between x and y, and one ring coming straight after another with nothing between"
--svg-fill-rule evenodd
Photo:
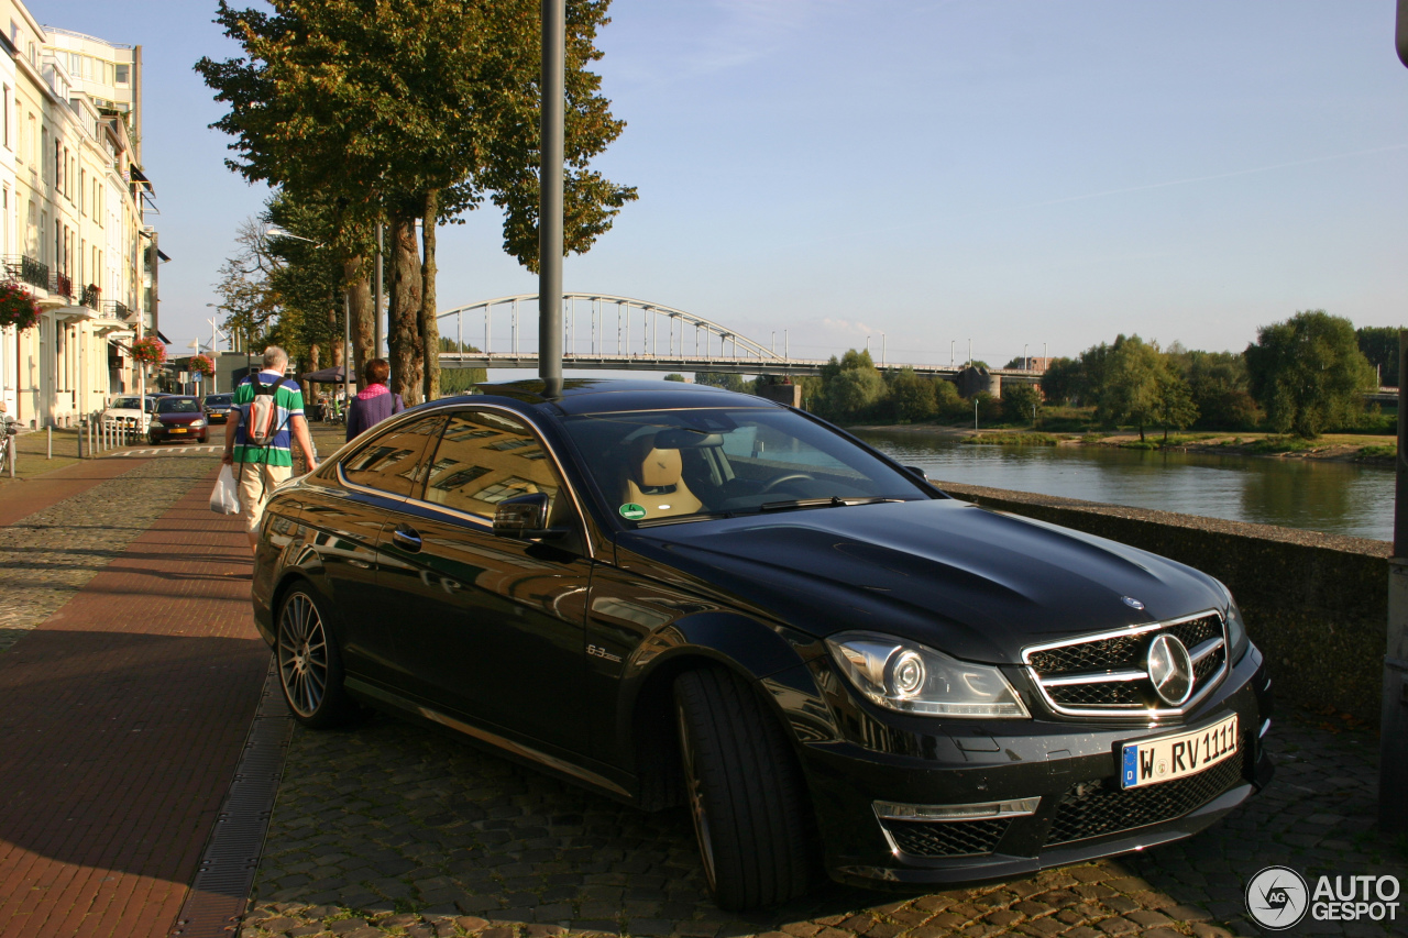
<instances>
[{"instance_id":1,"label":"windshield of the black Mercedes coupe, tan seat visible behind it","mask_svg":"<svg viewBox=\"0 0 1408 938\"><path fill-rule=\"evenodd\" d=\"M905 473L787 410L583 414L565 425L608 508L627 521L929 497Z\"/></svg>"}]
</instances>

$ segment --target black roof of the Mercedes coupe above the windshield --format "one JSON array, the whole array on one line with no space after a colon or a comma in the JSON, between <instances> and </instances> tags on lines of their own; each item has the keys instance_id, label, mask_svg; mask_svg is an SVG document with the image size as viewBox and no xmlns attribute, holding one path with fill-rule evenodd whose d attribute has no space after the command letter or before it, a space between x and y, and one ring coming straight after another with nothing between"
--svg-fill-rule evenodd
<instances>
[{"instance_id":1,"label":"black roof of the Mercedes coupe above the windshield","mask_svg":"<svg viewBox=\"0 0 1408 938\"><path fill-rule=\"evenodd\" d=\"M517 382L483 382L474 386L480 394L510 397L525 404L552 407L565 414L600 414L631 410L674 410L689 407L780 407L753 394L689 384L621 377L569 377L558 394L548 393L542 379ZM473 401L473 396L465 399Z\"/></svg>"}]
</instances>

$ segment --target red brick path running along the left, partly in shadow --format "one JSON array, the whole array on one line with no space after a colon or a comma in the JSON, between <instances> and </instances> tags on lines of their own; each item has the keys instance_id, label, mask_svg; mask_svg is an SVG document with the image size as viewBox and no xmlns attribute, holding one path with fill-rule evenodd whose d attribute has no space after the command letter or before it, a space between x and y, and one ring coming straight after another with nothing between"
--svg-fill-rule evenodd
<instances>
[{"instance_id":1,"label":"red brick path running along the left, partly in shadow","mask_svg":"<svg viewBox=\"0 0 1408 938\"><path fill-rule=\"evenodd\" d=\"M215 462L153 462L184 497L0 655L4 938L166 934L258 700L269 652L238 523L206 504Z\"/></svg>"}]
</instances>

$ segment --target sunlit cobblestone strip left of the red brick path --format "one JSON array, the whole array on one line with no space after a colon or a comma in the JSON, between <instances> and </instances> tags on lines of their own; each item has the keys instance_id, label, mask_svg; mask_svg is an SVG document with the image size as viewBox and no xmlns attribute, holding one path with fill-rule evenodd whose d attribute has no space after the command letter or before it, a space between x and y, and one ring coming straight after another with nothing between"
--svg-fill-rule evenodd
<instances>
[{"instance_id":1,"label":"sunlit cobblestone strip left of the red brick path","mask_svg":"<svg viewBox=\"0 0 1408 938\"><path fill-rule=\"evenodd\" d=\"M152 459L0 528L0 652L83 589L217 459Z\"/></svg>"}]
</instances>

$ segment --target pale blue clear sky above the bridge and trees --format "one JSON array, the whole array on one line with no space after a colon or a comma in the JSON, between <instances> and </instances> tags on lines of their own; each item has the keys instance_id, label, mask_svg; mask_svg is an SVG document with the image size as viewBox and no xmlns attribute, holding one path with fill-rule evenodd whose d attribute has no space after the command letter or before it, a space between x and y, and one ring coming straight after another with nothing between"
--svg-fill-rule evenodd
<instances>
[{"instance_id":1,"label":"pale blue clear sky above the bridge and trees","mask_svg":"<svg viewBox=\"0 0 1408 938\"><path fill-rule=\"evenodd\" d=\"M197 0L31 10L145 46L179 351L263 197L222 166L190 68L235 49ZM1242 349L1304 308L1408 321L1393 0L615 0L612 20L600 70L628 127L598 168L641 200L567 259L569 290L787 330L798 356L884 332L915 362L1121 331ZM536 289L498 225L442 230L442 308Z\"/></svg>"}]
</instances>

